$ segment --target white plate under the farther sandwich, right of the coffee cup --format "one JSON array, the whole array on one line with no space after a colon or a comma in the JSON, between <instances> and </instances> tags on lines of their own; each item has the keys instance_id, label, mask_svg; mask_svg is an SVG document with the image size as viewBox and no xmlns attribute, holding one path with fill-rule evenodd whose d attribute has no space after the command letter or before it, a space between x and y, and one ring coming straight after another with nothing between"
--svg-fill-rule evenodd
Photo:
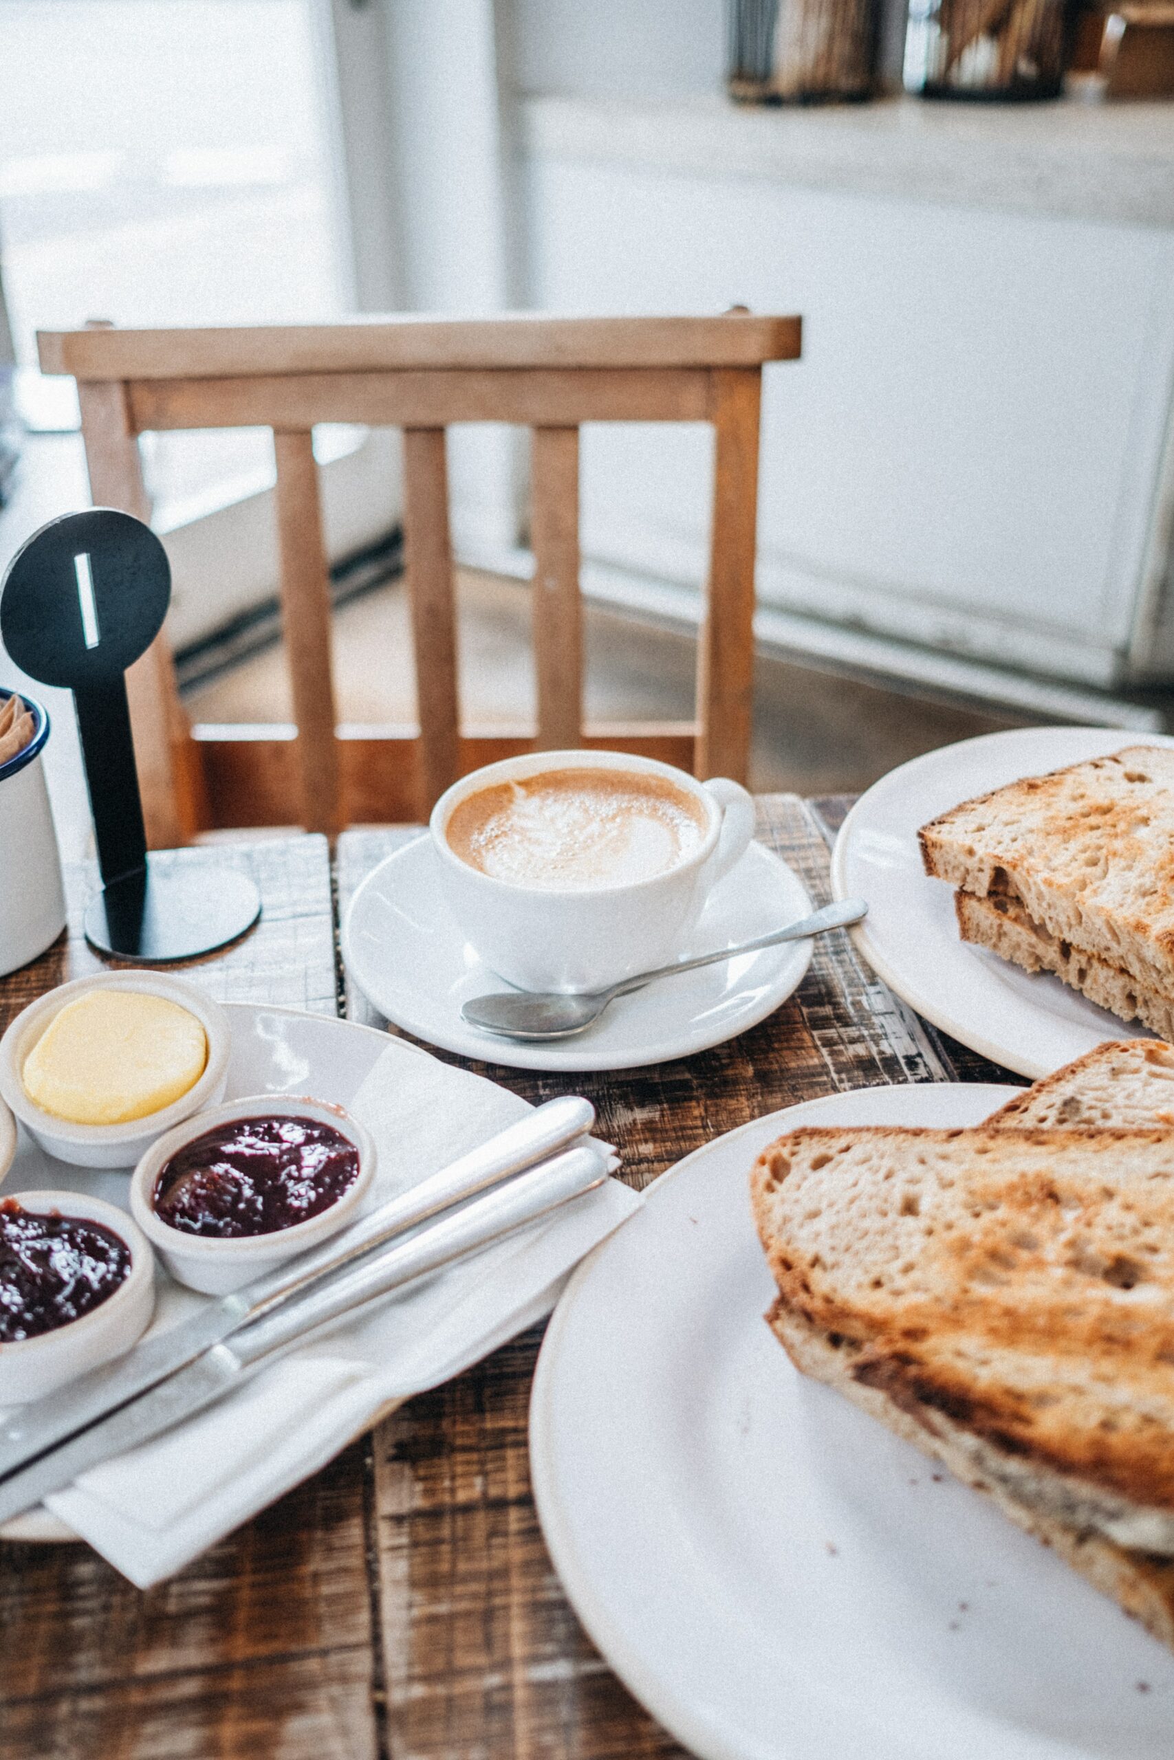
<instances>
[{"instance_id":1,"label":"white plate under the farther sandwich, right of the coffee cup","mask_svg":"<svg viewBox=\"0 0 1174 1760\"><path fill-rule=\"evenodd\" d=\"M1119 1021L1046 972L1031 975L959 940L954 891L924 873L917 829L1021 776L1137 744L1174 746L1174 739L1097 727L1024 727L963 739L889 771L840 827L833 892L868 899L868 917L850 933L873 972L917 1014L1021 1075L1051 1075L1104 1038L1134 1038L1146 1028Z\"/></svg>"}]
</instances>

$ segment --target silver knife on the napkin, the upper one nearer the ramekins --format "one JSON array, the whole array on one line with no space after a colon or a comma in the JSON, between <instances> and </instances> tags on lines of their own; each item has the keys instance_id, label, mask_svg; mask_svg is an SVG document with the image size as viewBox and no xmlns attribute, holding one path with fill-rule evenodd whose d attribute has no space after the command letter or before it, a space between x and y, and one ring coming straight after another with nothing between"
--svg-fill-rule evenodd
<instances>
[{"instance_id":1,"label":"silver knife on the napkin, the upper one nearer the ramekins","mask_svg":"<svg viewBox=\"0 0 1174 1760\"><path fill-rule=\"evenodd\" d=\"M62 1392L9 1412L0 1422L0 1482L46 1448L56 1447L67 1436L174 1375L209 1345L289 1301L313 1280L340 1265L363 1260L431 1216L549 1158L577 1137L584 1137L593 1123L595 1109L590 1100L574 1095L547 1100L477 1149L371 1211L347 1234L334 1236L245 1288L232 1290L181 1325L137 1345L116 1362L79 1376Z\"/></svg>"}]
</instances>

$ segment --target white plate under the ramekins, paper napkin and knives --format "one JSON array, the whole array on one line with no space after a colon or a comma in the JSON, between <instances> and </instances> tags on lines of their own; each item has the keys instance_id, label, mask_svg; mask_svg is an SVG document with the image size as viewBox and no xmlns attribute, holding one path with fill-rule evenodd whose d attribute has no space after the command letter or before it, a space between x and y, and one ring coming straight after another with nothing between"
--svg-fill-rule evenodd
<instances>
[{"instance_id":1,"label":"white plate under the ramekins, paper napkin and knives","mask_svg":"<svg viewBox=\"0 0 1174 1760\"><path fill-rule=\"evenodd\" d=\"M364 1077L387 1047L385 1033L326 1014L305 1014L297 1008L257 1008L248 1003L227 1003L225 1014L232 1028L225 1100L239 1100L243 1095L312 1095L315 1100L350 1105ZM88 1192L120 1209L130 1209L130 1174L127 1170L97 1172L55 1162L44 1149L37 1148L23 1125L19 1126L16 1160L5 1184L11 1192L37 1188ZM181 1288L167 1276L162 1264L157 1276L160 1280L155 1304L157 1327L172 1325L211 1299ZM76 1535L56 1515L37 1508L4 1522L0 1538L74 1540Z\"/></svg>"}]
</instances>

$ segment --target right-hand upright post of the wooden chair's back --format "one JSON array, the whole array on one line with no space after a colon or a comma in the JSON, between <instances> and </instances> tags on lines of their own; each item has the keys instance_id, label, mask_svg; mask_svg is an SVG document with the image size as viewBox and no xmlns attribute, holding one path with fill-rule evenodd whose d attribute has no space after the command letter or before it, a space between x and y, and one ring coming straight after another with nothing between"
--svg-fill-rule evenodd
<instances>
[{"instance_id":1,"label":"right-hand upright post of the wooden chair's back","mask_svg":"<svg viewBox=\"0 0 1174 1760\"><path fill-rule=\"evenodd\" d=\"M697 774L746 781L753 704L753 558L759 516L757 370L713 373L713 533L697 648Z\"/></svg>"}]
</instances>

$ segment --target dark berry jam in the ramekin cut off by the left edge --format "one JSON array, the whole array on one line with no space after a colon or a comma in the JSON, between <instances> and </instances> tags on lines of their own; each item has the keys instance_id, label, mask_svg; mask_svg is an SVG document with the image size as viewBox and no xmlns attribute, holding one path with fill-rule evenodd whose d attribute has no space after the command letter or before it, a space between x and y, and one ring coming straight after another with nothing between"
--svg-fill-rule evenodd
<instances>
[{"instance_id":1,"label":"dark berry jam in the ramekin cut off by the left edge","mask_svg":"<svg viewBox=\"0 0 1174 1760\"><path fill-rule=\"evenodd\" d=\"M130 1248L86 1216L0 1202L0 1345L39 1338L100 1308L130 1271Z\"/></svg>"}]
</instances>

